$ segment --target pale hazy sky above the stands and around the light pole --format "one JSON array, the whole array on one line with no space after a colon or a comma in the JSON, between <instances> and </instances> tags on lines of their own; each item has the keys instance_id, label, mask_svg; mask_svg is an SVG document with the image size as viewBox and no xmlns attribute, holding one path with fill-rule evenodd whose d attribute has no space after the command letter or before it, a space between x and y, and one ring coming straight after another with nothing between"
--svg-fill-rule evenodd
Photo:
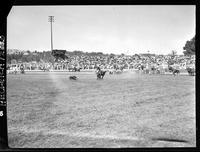
<instances>
[{"instance_id":1,"label":"pale hazy sky above the stands and around the light pole","mask_svg":"<svg viewBox=\"0 0 200 152\"><path fill-rule=\"evenodd\" d=\"M104 53L182 54L195 35L194 5L14 6L7 18L7 48Z\"/></svg>"}]
</instances>

